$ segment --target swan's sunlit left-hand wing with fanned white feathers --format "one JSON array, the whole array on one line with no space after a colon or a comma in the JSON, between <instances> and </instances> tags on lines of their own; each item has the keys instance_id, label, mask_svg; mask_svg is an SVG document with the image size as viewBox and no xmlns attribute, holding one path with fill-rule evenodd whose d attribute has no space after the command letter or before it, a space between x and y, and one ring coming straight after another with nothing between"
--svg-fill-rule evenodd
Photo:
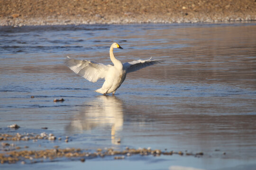
<instances>
[{"instance_id":1,"label":"swan's sunlit left-hand wing with fanned white feathers","mask_svg":"<svg viewBox=\"0 0 256 170\"><path fill-rule=\"evenodd\" d=\"M90 60L72 59L67 56L65 65L69 67L76 74L83 76L90 82L97 82L100 78L104 78L109 70L109 66L104 64L95 63Z\"/></svg>"}]
</instances>

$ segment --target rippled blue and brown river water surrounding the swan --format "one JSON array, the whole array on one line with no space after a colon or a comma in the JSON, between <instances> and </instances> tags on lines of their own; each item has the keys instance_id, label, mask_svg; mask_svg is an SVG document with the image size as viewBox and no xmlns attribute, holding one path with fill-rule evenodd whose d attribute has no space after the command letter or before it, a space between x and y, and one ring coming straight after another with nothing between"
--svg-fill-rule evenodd
<instances>
[{"instance_id":1,"label":"rippled blue and brown river water surrounding the swan","mask_svg":"<svg viewBox=\"0 0 256 170\"><path fill-rule=\"evenodd\" d=\"M75 75L64 59L111 64L112 42L124 48L114 50L122 62L152 57L165 63L129 73L115 96L101 96L94 90L103 81ZM45 162L24 169L256 166L256 23L0 27L0 60L0 133L17 123L15 132L72 139L43 142L41 148L31 141L21 145L204 153Z\"/></svg>"}]
</instances>

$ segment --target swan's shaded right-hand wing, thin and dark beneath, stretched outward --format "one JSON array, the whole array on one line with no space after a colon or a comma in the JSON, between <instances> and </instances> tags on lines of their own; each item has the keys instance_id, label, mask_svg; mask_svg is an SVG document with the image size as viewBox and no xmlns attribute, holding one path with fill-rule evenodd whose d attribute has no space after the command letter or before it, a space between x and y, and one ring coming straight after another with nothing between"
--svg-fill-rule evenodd
<instances>
[{"instance_id":1,"label":"swan's shaded right-hand wing, thin and dark beneath, stretched outward","mask_svg":"<svg viewBox=\"0 0 256 170\"><path fill-rule=\"evenodd\" d=\"M123 67L126 70L126 73L130 73L133 71L137 71L141 68L145 68L147 66L151 66L151 65L154 65L157 63L162 63L162 62L164 62L164 61L157 60L157 59L151 60L151 58L147 59L147 60L139 59L139 60L135 60L135 61L131 61L131 62L126 62L123 64Z\"/></svg>"}]
</instances>

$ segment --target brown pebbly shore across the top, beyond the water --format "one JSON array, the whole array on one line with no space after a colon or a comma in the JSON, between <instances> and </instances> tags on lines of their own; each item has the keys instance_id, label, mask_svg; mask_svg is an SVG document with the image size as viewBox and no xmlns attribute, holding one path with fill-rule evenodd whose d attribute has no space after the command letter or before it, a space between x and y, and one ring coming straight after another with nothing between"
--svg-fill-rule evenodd
<instances>
[{"instance_id":1,"label":"brown pebbly shore across the top, beyond the water","mask_svg":"<svg viewBox=\"0 0 256 170\"><path fill-rule=\"evenodd\" d=\"M0 26L256 20L255 0L1 0Z\"/></svg>"}]
</instances>

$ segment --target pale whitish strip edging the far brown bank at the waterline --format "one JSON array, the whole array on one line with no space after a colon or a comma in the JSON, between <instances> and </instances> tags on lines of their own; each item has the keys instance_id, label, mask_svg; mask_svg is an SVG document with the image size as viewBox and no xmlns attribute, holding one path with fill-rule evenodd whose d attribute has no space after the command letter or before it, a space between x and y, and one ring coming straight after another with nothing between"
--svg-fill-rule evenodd
<instances>
[{"instance_id":1,"label":"pale whitish strip edging the far brown bank at the waterline","mask_svg":"<svg viewBox=\"0 0 256 170\"><path fill-rule=\"evenodd\" d=\"M58 25L93 25L93 24L173 24L173 23L230 23L230 22L253 22L255 17L225 17L225 18L117 18L110 20L103 19L82 19L66 17L47 18L0 18L0 26L58 26Z\"/></svg>"}]
</instances>

